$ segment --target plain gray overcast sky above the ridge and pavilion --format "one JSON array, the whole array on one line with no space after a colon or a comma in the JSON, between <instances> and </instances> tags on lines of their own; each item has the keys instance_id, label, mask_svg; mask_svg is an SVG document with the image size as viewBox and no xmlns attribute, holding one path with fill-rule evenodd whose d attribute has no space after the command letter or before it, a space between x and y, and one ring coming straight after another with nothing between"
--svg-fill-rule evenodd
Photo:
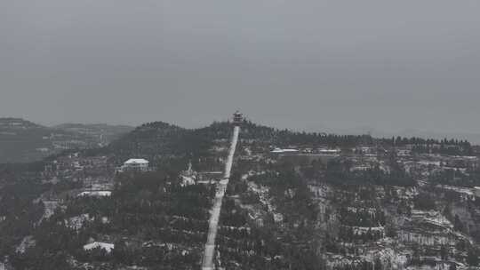
<instances>
[{"instance_id":1,"label":"plain gray overcast sky above the ridge and pavilion","mask_svg":"<svg viewBox=\"0 0 480 270\"><path fill-rule=\"evenodd\" d=\"M477 0L0 0L0 116L480 132Z\"/></svg>"}]
</instances>

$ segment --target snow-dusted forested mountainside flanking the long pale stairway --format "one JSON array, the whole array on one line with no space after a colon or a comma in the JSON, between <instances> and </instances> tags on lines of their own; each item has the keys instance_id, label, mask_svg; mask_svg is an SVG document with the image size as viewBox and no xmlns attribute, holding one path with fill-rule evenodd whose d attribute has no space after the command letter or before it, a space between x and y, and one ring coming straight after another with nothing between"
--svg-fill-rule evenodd
<instances>
[{"instance_id":1,"label":"snow-dusted forested mountainside flanking the long pale stairway","mask_svg":"<svg viewBox=\"0 0 480 270\"><path fill-rule=\"evenodd\" d=\"M200 129L146 123L106 147L1 165L0 266L4 258L16 270L198 269L231 134L228 122ZM298 151L276 154L275 147ZM459 140L244 121L215 265L476 266L480 170L471 149ZM133 157L148 159L149 171L117 170Z\"/></svg>"}]
</instances>

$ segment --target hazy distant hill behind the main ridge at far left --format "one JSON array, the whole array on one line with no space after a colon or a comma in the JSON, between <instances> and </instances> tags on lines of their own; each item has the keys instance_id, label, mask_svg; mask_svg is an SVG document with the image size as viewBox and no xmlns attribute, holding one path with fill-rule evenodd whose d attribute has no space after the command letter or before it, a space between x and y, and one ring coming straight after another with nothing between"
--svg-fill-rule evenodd
<instances>
[{"instance_id":1,"label":"hazy distant hill behind the main ridge at far left","mask_svg":"<svg viewBox=\"0 0 480 270\"><path fill-rule=\"evenodd\" d=\"M72 148L102 147L127 126L66 123L46 127L21 118L0 118L0 163L28 163Z\"/></svg>"}]
</instances>

